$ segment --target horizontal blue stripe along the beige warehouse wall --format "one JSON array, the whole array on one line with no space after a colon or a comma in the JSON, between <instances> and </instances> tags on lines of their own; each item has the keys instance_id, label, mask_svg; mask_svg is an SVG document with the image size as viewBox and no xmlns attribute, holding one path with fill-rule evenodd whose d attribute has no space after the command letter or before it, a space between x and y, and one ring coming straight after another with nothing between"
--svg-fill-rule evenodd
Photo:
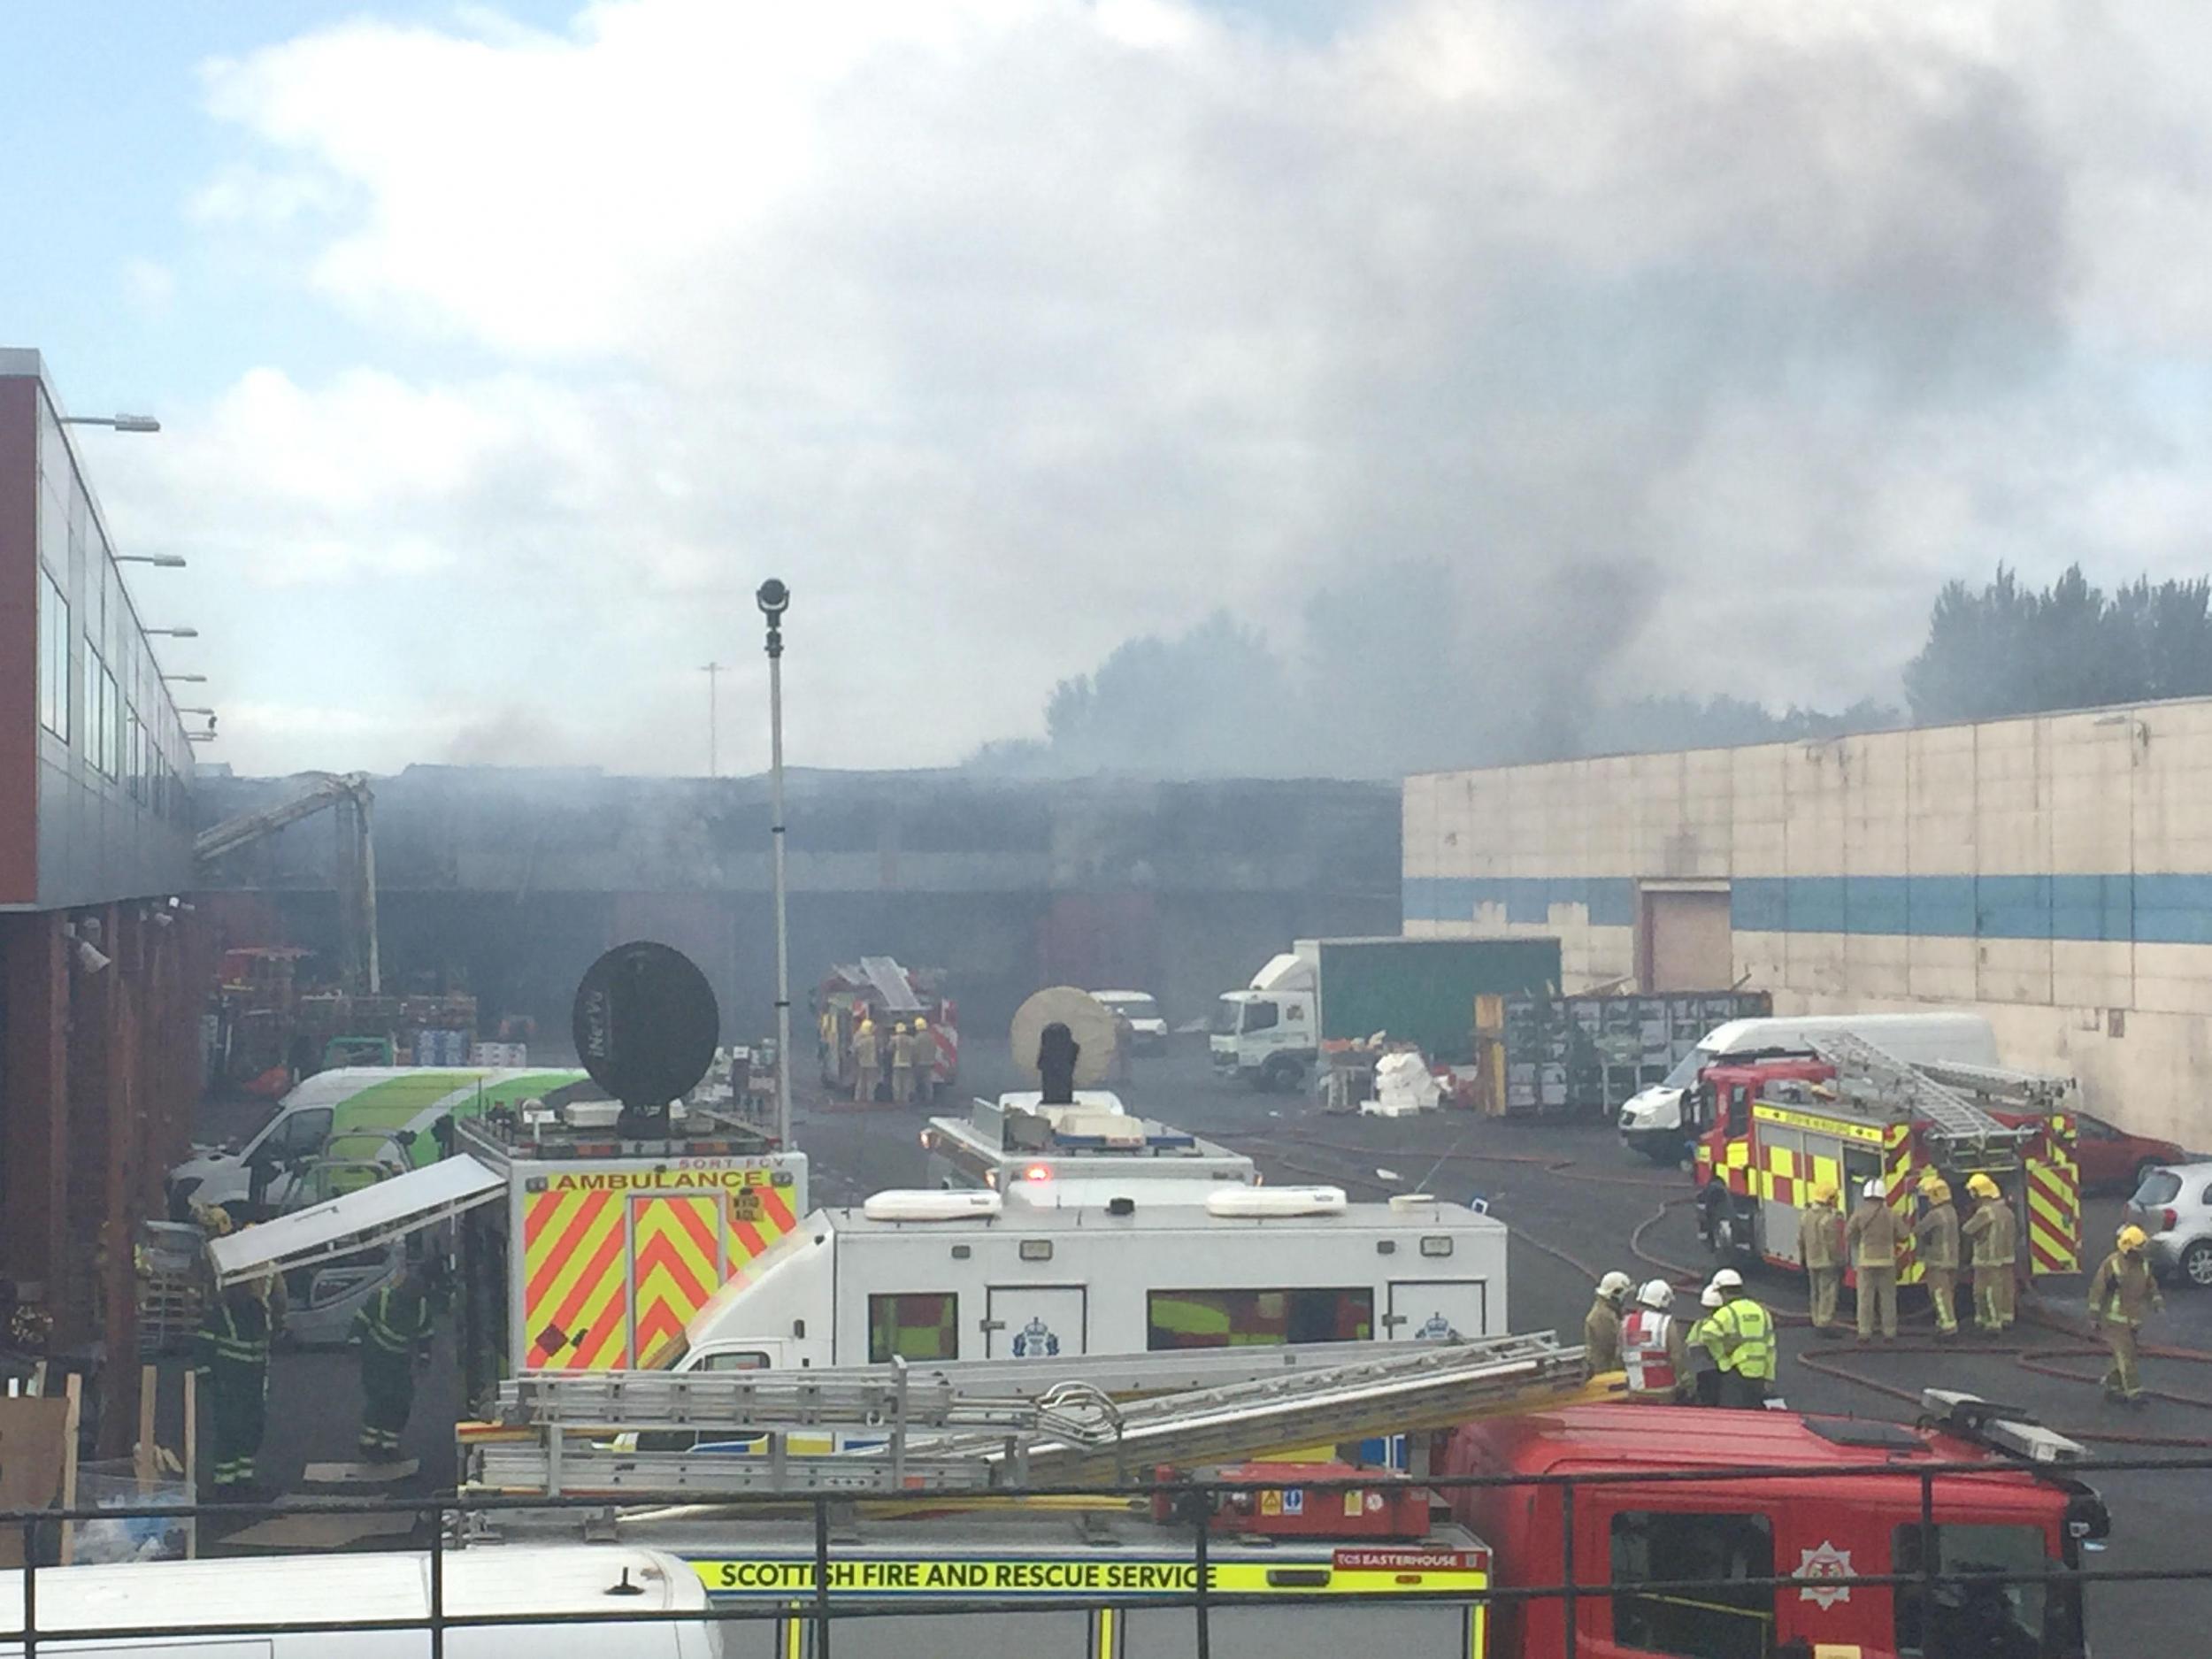
<instances>
[{"instance_id":1,"label":"horizontal blue stripe along the beige warehouse wall","mask_svg":"<svg viewBox=\"0 0 2212 1659\"><path fill-rule=\"evenodd\" d=\"M1502 905L1546 922L1584 905L1593 927L1630 927L1628 876L1407 876L1405 918L1464 922ZM1889 933L2212 945L2212 876L1739 876L1728 920L1741 933Z\"/></svg>"}]
</instances>

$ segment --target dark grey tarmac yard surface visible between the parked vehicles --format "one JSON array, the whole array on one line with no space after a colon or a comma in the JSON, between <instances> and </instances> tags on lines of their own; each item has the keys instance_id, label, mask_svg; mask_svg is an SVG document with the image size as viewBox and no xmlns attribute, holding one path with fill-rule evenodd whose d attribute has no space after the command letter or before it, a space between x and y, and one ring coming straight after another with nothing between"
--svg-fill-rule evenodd
<instances>
[{"instance_id":1,"label":"dark grey tarmac yard surface visible between the parked vehicles","mask_svg":"<svg viewBox=\"0 0 2212 1659\"><path fill-rule=\"evenodd\" d=\"M969 1040L962 1046L962 1086L938 1104L938 1113L964 1110L969 1095L1035 1086L1013 1075L1006 1044ZM918 1186L925 1159L918 1130L920 1108L854 1110L821 1099L801 1079L796 1139L812 1159L814 1203L854 1203L872 1190ZM1484 1121L1455 1113L1422 1119L1327 1117L1303 1097L1256 1095L1217 1084L1206 1064L1203 1037L1177 1037L1168 1055L1139 1060L1121 1091L1133 1110L1223 1139L1259 1159L1270 1181L1327 1179L1354 1197L1429 1190L1453 1199L1484 1197L1511 1230L1511 1325L1520 1332L1555 1329L1579 1340L1590 1303L1590 1272L1621 1267L1637 1279L1663 1272L1637 1261L1630 1234L1644 1228L1644 1250L1686 1270L1679 1283L1701 1279L1710 1259L1697 1239L1688 1206L1663 1210L1668 1199L1688 1194L1688 1179L1657 1170L1619 1148L1601 1124ZM1389 1172L1389 1175L1383 1175ZM2110 1239L2119 1197L2093 1199L2093 1239ZM1650 1221L1650 1217L1659 1217ZM1648 1223L1648 1225L1646 1225ZM1566 1261L1568 1256L1573 1261ZM1785 1274L1754 1279L1754 1290L1778 1314L1801 1314L1803 1292ZM2055 1312L2079 1310L2079 1281L2046 1283L2044 1298ZM2152 1402L2128 1411L2104 1405L2095 1387L2101 1358L2059 1358L2086 1380L2059 1380L2024 1369L2011 1356L1975 1352L1971 1338L1955 1349L1922 1354L1854 1349L1840 1345L1816 1360L1838 1365L1845 1376L1816 1374L1803 1363L1809 1334L1783 1327L1781 1387L1792 1405L1880 1418L1909 1418L1911 1407L1871 1383L1918 1391L1922 1387L1971 1389L2037 1413L2044 1422L2077 1436L2152 1436L2188 1442L2212 1453L2212 1294L2168 1290L2168 1316L2150 1338L2185 1347L2201 1363L2146 1360L2148 1383L2208 1405ZM1927 1332L1924 1314L1909 1332ZM2035 1334L2033 1340L2066 1343ZM1907 1338L1911 1343L1911 1336ZM270 1398L268 1475L296 1491L301 1464L352 1455L358 1422L358 1363L352 1354L290 1354L276 1363ZM1858 1380L1849 1380L1858 1378ZM407 1451L422 1458L422 1480L409 1489L451 1480L449 1425L458 1409L453 1363L445 1340L438 1360L422 1376ZM2097 1455L2135 1455L2121 1440L2093 1442ZM2179 1447L2146 1449L2143 1455L2183 1455ZM2093 1482L2112 1511L2112 1544L2090 1559L2093 1568L2185 1568L2212 1564L2203 1542L2203 1493L2212 1471L2201 1473L2104 1473ZM2212 1628L2212 1584L2093 1586L2090 1632L2099 1652L2152 1655L2188 1652Z\"/></svg>"}]
</instances>

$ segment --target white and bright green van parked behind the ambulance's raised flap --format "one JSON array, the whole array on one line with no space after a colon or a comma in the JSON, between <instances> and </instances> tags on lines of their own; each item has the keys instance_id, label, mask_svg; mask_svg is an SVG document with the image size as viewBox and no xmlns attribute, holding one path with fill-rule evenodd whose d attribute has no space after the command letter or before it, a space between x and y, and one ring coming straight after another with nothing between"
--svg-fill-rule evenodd
<instances>
[{"instance_id":1,"label":"white and bright green van parked behind the ambulance's raised flap","mask_svg":"<svg viewBox=\"0 0 2212 1659\"><path fill-rule=\"evenodd\" d=\"M476 1117L524 1099L597 1095L582 1071L513 1066L338 1066L301 1079L237 1148L197 1148L168 1172L170 1212L223 1208L239 1221L290 1210L307 1197L305 1168L334 1146L389 1141L407 1166L445 1155L438 1119Z\"/></svg>"}]
</instances>

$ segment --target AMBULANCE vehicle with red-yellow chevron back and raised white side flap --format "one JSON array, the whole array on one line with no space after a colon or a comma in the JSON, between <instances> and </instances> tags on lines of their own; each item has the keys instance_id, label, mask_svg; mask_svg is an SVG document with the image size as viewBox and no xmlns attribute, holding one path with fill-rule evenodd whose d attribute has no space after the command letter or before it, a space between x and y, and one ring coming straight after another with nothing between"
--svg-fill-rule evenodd
<instances>
[{"instance_id":1,"label":"AMBULANCE vehicle with red-yellow chevron back and raised white side flap","mask_svg":"<svg viewBox=\"0 0 2212 1659\"><path fill-rule=\"evenodd\" d=\"M458 1223L471 1394L518 1369L639 1365L799 1228L807 1159L708 1108L646 1137L617 1113L571 1102L462 1121L440 1164L217 1239L217 1279L361 1259Z\"/></svg>"}]
</instances>

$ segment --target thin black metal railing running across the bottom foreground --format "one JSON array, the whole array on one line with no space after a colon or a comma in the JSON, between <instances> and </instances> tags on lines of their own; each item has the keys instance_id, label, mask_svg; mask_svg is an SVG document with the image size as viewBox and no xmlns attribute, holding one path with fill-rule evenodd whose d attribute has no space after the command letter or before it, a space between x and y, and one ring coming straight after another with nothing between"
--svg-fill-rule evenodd
<instances>
[{"instance_id":1,"label":"thin black metal railing running across the bottom foreground","mask_svg":"<svg viewBox=\"0 0 2212 1659\"><path fill-rule=\"evenodd\" d=\"M1856 1590L1856 1588L1900 1588L1909 1586L1922 1597L1922 1608L1933 1608L1938 1595L1949 1590L1953 1597L1958 1593L1986 1593L2004 1590L2015 1586L2035 1586L2046 1595L2053 1588L2062 1588L2068 1595L2077 1595L2079 1588L2097 1584L2161 1584L2161 1582L2203 1582L2212 1579L2212 1553L2203 1553L2197 1564L2170 1566L2170 1568L2088 1568L2079 1566L2068 1551L2062 1557L2046 1555L2033 1564L2020 1564L2011 1568L1984 1568L1975 1566L1971 1571L1944 1571L1940 1566L1942 1553L1938 1540L1944 1526L1958 1524L2028 1524L2026 1511L2006 1504L2002 1509L1975 1509L1973 1484L2004 1480L2017 1482L2022 1473L2033 1473L2042 1482L2048 1482L2048 1491L2062 1502L2059 1533L2068 1533L2075 1542L2090 1544L2101 1535L2104 1513L2101 1502L2095 1493L2081 1484L2086 1478L2108 1475L2108 1473L2132 1473L2132 1475L2201 1475L2212 1471L2212 1449L2203 1455L2185 1458L2099 1458L2075 1464L2042 1464L2031 1467L2013 1460L1973 1460L1973 1462L1938 1462L1938 1460L1916 1460L1911 1464L1900 1462L1863 1462L1863 1464L1823 1464L1818 1469L1807 1469L1803 1464L1772 1464L1772 1467L1736 1467L1736 1469L1637 1469L1637 1471L1575 1471L1575 1473L1546 1473L1546 1475L1438 1475L1425 1478L1418 1484L1436 1491L1444 1498L1455 1493L1475 1493L1493 1489L1517 1489L1528 1493L1557 1491L1557 1531L1551 1528L1528 1531L1517 1544L1531 1555L1542 1555L1542 1564L1548 1571L1535 1571L1533 1559L1504 1559L1504 1555L1491 1557L1489 1582L1480 1588L1469 1588L1467 1584L1449 1586L1427 1586L1427 1584L1400 1584L1387 1590L1360 1590L1360 1588L1329 1588L1327 1599L1332 1604L1467 1604L1480 1606L1484 1617L1491 1610L1520 1608L1528 1604L1557 1601L1562 1608L1559 1624L1559 1648L1557 1652L1575 1659L1579 1644L1586 1632L1579 1630L1582 1619L1577 1617L1582 1606L1590 1599L1644 1599L1644 1601L1725 1601L1725 1597L1736 1597L1743 1608L1743 1617L1761 1619L1767 1626L1767 1644L1759 1650L1774 1655L1792 1655L1798 1648L1794 1644L1774 1646L1772 1626L1774 1613L1759 1613L1745 1597L1747 1593L1770 1590ZM1621 1579L1613 1571L1613 1559L1601 1559L1597 1564L1588 1559L1577 1559L1577 1509L1588 1509L1593 1493L1604 1498L1615 1498L1624 1489L1668 1489L1668 1486L1741 1486L1750 1493L1743 1502L1756 1502L1756 1491L1765 1482L1796 1480L1803 1482L1816 1475L1823 1482L1834 1480L1856 1480L1856 1478L1878 1478L1885 1482L1882 1493L1893 1495L1893 1511L1885 1520L1885 1531L1902 1533L1902 1528L1913 1528L1918 1537L1916 1564L1907 1571L1849 1571L1849 1568L1825 1568L1816 1577L1805 1571L1798 1573L1728 1573L1728 1575L1705 1575L1705 1577L1632 1577ZM1374 1491L1376 1478L1332 1478L1332 1480L1305 1480L1296 1486L1307 1495L1318 1493L1343 1493L1343 1491ZM619 1504L611 1504L604 1495L588 1498L520 1498L520 1495L480 1495L480 1493L442 1493L434 1498L283 1498L268 1502L219 1502L199 1504L192 1509L177 1509L173 1504L115 1504L100 1509L40 1509L40 1511L4 1511L0 1513L0 1528L13 1528L22 1540L24 1566L20 1568L22 1586L22 1621L15 1628L0 1630L0 1644L15 1646L24 1659L35 1659L42 1644L146 1644L166 1646L173 1641L206 1641L212 1637L274 1637L288 1632L314 1632L314 1630L358 1630L358 1632L425 1632L427 1652L434 1659L442 1659L447 1637L456 1630L500 1630L500 1628L546 1628L546 1626L650 1626L650 1624L759 1624L774 1621L790 1630L792 1626L803 1626L805 1644L779 1648L783 1652L805 1652L810 1659L830 1659L834 1644L834 1628L843 1621L867 1621L867 1619L936 1619L947 1615L980 1615L980 1613L1037 1613L1040 1608L1068 1610L1068 1613L1124 1613L1124 1610L1188 1610L1192 1615L1192 1650L1197 1659L1210 1659L1212 1650L1212 1624L1221 1608L1256 1608L1256 1606L1312 1606L1316 1584L1310 1577L1301 1577L1292 1571L1285 1582L1276 1584L1270 1575L1265 1588L1239 1586L1225 1590L1217 1584L1214 1564L1221 1559L1219 1551L1234 1548L1241 1544L1243 1533L1225 1528L1217 1515L1217 1502L1228 1495L1250 1498L1254 1486L1250 1482L1146 1482L1137 1486L1029 1486L1029 1489L984 1489L984 1491L953 1491L953 1493L876 1493L876 1491L852 1491L852 1493L734 1493L717 1495L712 1500L701 1500L697 1491L668 1491L668 1493L626 1493ZM887 1531L874 1533L869 1544L880 1553L887 1537L894 1537L907 1553L929 1553L931 1535L922 1531L925 1522L898 1520L896 1511L916 1509L942 1513L947 1509L958 1509L969 1520L978 1515L991 1515L993 1511L1011 1511L1015 1506L1035 1506L1040 1500L1051 1500L1062 1511L1068 1502L1088 1502L1099 1509L1130 1511L1139 1504L1152 1504L1152 1500L1164 1500L1168 1520L1152 1522L1157 1526L1157 1542L1148 1537L1148 1551L1159 1555L1164 1551L1183 1553L1188 1551L1190 1573L1188 1588L1159 1588L1144 1593L1117 1593L1113 1588L1088 1590L1088 1588L1048 1588L1046 1593L1024 1593L1024 1595L993 1595L989 1590L962 1593L945 1590L933 1593L927 1599L889 1597L874 1593L854 1584L838 1584L838 1564L849 1562L863 1551L854 1551L847 1542L841 1542L841 1528L845 1515L854 1504L865 1504L876 1522L885 1522ZM613 1509L637 1511L648 1506L684 1506L692 1520L690 1526L699 1528L699 1506L710 1502L714 1511L728 1515L730 1533L723 1544L717 1540L714 1548L745 1548L748 1544L759 1544L759 1537L748 1537L745 1531L757 1531L761 1526L759 1515L774 1511L779 1517L805 1515L812 1520L807 1528L807 1540L803 1548L790 1544L783 1546L783 1557L803 1564L805 1577L799 1586L787 1593L757 1597L757 1599L717 1599L706 1582L701 1579L703 1604L692 1606L664 1606L664 1608L608 1608L588 1610L580 1606L549 1608L549 1610L471 1610L467 1604L453 1606L449 1595L449 1557L467 1551L476 1555L478 1551L500 1551L498 1542L465 1542L467 1533L482 1531L489 1522L507 1517L520 1526L509 1526L518 1540L546 1542L553 1524L564 1520L564 1511L573 1513L575 1526L568 1533L575 1540L584 1540L604 1528L586 1526L586 1522L606 1515ZM1867 1506L1869 1493L1858 1491L1854 1502ZM750 1515L748 1515L750 1511ZM1942 1513L1938 1513L1942 1511ZM1048 1524L1053 1511L1037 1513L1029 1511L1040 1526ZM1714 1506L1708 1511L1694 1509L1672 1509L1672 1517L1694 1517L1699 1513L1732 1513L1725 1506ZM159 1619L144 1624L95 1624L86 1617L73 1617L71 1610L62 1610L53 1617L42 1617L40 1613L40 1586L53 1582L55 1573L69 1575L82 1568L62 1568L51 1562L40 1562L42 1548L51 1548L58 1528L64 1522L117 1522L117 1520L161 1520L175 1522L179 1517L217 1520L217 1522L248 1522L263 1520L272 1515L299 1517L299 1515L358 1515L374 1517L385 1515L394 1520L405 1520L407 1531L420 1533L422 1544L409 1544L411 1553L425 1557L425 1606L420 1613L394 1615L394 1617L354 1617L343 1608L332 1608L330 1617L299 1619L288 1617L281 1621L254 1619L250 1608L241 1610L237 1619L179 1619L175 1613L166 1613ZM2051 1511L2044 1511L2048 1517ZM885 1520L887 1517L887 1520ZM1064 1517L1064 1515L1062 1515ZM872 1524L876 1524L872 1522ZM945 1522L958 1528L958 1520ZM907 1535L907 1528L914 1528ZM602 1544L602 1548L661 1548L668 1555L703 1559L703 1551L697 1548L697 1531L686 1544L668 1544L655 1537L650 1522L626 1524L626 1535L619 1544ZM794 1531L785 1528L783 1537L796 1537ZM1004 1542L1004 1540L1000 1540ZM1301 1537L1292 1542L1329 1544L1327 1537ZM1486 1546L1498 1546L1498 1540L1482 1540ZM1588 1544L1588 1540L1582 1540ZM1347 1537L1334 1540L1338 1548L1413 1548L1418 1544L1405 1544L1396 1540L1371 1540L1371 1537ZM1018 1546L1020 1548L1020 1546ZM299 1551L296 1555L312 1555L314 1551ZM973 1542L956 1546L951 1555L973 1555ZM1073 1553L1073 1548L1062 1548L1062 1553ZM257 1555L265 1555L257 1551ZM137 1571L137 1566L122 1566L115 1571ZM150 1566L148 1571L159 1571ZM686 1573L690 1568L686 1566ZM1506 1582L1500 1582L1506 1579ZM1517 1579L1517 1582L1513 1582ZM66 1579L64 1579L66 1582ZM241 1599L250 1599L250 1579L237 1584ZM686 1586L688 1597L688 1586ZM507 1593L498 1597L509 1608L513 1606L513 1595ZM681 1599L681 1597L679 1597ZM102 1597L111 1604L113 1597ZM1772 1601L1772 1597L1770 1597ZM1734 1604L1730 1604L1734 1606ZM0 1615L4 1617L4 1615ZM2079 1630L2066 1635L2057 1646L2037 1648L2037 1652L2059 1652L2073 1655L2084 1650L2084 1637ZM670 1648L672 1650L672 1648ZM1279 1648L1285 1655L1294 1655L1296 1648ZM1332 1644L1329 1652L1338 1648ZM1467 1648L1460 1648L1467 1652ZM1493 1650L1495 1652L1495 1650ZM1809 1648L1805 1648L1809 1652ZM1927 1646L1929 1655L1942 1655L1944 1648ZM1391 1659L1416 1659L1411 1652L1391 1655Z\"/></svg>"}]
</instances>

